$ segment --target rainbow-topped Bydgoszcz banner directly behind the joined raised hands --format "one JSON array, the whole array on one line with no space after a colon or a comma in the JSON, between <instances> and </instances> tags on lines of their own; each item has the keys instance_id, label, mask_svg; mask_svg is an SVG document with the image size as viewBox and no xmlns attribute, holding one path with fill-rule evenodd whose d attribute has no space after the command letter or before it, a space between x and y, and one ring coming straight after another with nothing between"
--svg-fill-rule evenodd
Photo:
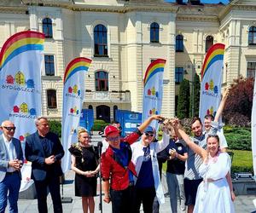
<instances>
[{"instance_id":1,"label":"rainbow-topped Bydgoszcz banner directly behind the joined raised hands","mask_svg":"<svg viewBox=\"0 0 256 213\"><path fill-rule=\"evenodd\" d=\"M154 114L160 114L163 96L163 73L166 60L154 60L145 72L143 80L143 121ZM155 129L157 121L151 124Z\"/></svg>"}]
</instances>

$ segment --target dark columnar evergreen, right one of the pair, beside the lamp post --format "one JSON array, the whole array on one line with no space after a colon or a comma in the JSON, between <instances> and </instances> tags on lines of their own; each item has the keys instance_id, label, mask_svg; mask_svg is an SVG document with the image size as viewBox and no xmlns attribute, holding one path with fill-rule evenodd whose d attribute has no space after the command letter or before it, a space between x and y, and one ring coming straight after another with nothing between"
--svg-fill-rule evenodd
<instances>
[{"instance_id":1,"label":"dark columnar evergreen, right one of the pair, beside the lamp post","mask_svg":"<svg viewBox=\"0 0 256 213\"><path fill-rule=\"evenodd\" d=\"M192 85L193 86L193 85ZM201 91L201 83L200 78L197 73L195 73L194 76L194 116L199 115L199 103L200 103L200 91ZM190 95L190 111L189 111L189 117L192 118L192 92Z\"/></svg>"}]
</instances>

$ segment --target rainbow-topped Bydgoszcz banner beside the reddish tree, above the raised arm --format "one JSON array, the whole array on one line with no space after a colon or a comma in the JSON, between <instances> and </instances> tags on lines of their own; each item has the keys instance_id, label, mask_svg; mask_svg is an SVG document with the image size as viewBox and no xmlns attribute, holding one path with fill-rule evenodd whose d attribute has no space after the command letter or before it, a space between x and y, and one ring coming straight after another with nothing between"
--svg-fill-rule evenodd
<instances>
[{"instance_id":1,"label":"rainbow-topped Bydgoszcz banner beside the reddish tree, above the raised arm","mask_svg":"<svg viewBox=\"0 0 256 213\"><path fill-rule=\"evenodd\" d=\"M216 43L208 50L201 69L201 97L199 117L215 116L221 100L224 44Z\"/></svg>"}]
</instances>

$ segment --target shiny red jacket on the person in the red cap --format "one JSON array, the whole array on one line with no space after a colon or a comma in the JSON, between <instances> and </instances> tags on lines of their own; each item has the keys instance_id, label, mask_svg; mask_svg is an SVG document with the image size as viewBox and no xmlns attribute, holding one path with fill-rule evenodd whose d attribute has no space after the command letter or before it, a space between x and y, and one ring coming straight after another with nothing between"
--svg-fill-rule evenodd
<instances>
[{"instance_id":1,"label":"shiny red jacket on the person in the red cap","mask_svg":"<svg viewBox=\"0 0 256 213\"><path fill-rule=\"evenodd\" d=\"M113 190L124 190L129 187L129 170L134 176L137 176L135 166L131 162L131 147L130 145L138 140L142 134L139 130L133 132L131 135L125 137L121 142L127 142L127 149L129 153L129 164L125 168L114 159L112 147L108 147L105 153L102 153L102 179L110 179L110 187ZM130 145L129 145L130 144Z\"/></svg>"}]
</instances>

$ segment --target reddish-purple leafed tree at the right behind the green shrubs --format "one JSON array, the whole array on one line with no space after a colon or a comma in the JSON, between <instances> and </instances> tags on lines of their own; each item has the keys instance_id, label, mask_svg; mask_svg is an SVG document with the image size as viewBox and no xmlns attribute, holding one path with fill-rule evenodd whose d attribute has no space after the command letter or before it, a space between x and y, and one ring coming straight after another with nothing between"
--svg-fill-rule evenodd
<instances>
[{"instance_id":1,"label":"reddish-purple leafed tree at the right behind the green shrubs","mask_svg":"<svg viewBox=\"0 0 256 213\"><path fill-rule=\"evenodd\" d=\"M251 122L253 107L253 78L234 80L231 84L230 95L224 107L224 119L228 124L247 126Z\"/></svg>"}]
</instances>

